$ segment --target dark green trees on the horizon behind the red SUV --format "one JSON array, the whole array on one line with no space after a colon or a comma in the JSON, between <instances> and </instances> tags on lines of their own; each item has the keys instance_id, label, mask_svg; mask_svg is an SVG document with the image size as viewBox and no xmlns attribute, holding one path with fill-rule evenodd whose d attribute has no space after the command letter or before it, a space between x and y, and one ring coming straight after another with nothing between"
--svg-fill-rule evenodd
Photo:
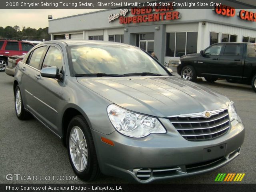
<instances>
[{"instance_id":1,"label":"dark green trees on the horizon behind the red SUV","mask_svg":"<svg viewBox=\"0 0 256 192\"><path fill-rule=\"evenodd\" d=\"M30 41L46 41L50 40L50 34L48 34L48 27L39 28L38 30L33 28L23 27L20 29L19 26L7 26L6 28L0 27L0 38L1 39L16 39L16 40L30 40Z\"/></svg>"}]
</instances>

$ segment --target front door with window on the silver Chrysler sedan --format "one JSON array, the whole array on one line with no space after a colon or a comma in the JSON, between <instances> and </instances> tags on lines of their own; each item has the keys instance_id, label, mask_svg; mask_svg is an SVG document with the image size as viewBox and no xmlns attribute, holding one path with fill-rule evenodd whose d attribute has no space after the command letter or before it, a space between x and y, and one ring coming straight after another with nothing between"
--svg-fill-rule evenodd
<instances>
[{"instance_id":1,"label":"front door with window on the silver Chrysler sedan","mask_svg":"<svg viewBox=\"0 0 256 192\"><path fill-rule=\"evenodd\" d=\"M59 73L64 76L64 57L60 46L52 44L48 47L41 68L56 66ZM51 128L55 133L58 130L58 113L60 112L63 101L61 99L61 91L64 85L64 79L58 80L54 78L46 78L40 75L40 71L36 72L37 87L34 96L39 101L36 103L36 111L39 118L44 124Z\"/></svg>"}]
</instances>

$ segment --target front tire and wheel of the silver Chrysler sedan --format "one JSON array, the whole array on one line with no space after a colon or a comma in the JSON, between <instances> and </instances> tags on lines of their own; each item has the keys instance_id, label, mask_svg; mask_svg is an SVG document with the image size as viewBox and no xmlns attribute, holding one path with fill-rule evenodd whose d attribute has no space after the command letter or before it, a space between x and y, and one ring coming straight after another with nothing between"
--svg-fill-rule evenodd
<instances>
[{"instance_id":1,"label":"front tire and wheel of the silver Chrysler sedan","mask_svg":"<svg viewBox=\"0 0 256 192\"><path fill-rule=\"evenodd\" d=\"M72 118L67 131L67 148L71 166L84 181L100 176L100 168L90 128L82 115Z\"/></svg>"}]
</instances>

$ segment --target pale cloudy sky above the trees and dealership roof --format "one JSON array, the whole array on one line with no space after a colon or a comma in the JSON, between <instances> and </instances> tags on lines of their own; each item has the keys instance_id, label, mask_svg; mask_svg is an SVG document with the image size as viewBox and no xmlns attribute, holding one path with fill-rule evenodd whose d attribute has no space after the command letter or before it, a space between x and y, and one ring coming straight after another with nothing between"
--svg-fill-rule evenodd
<instances>
[{"instance_id":1,"label":"pale cloudy sky above the trees and dealership roof","mask_svg":"<svg viewBox=\"0 0 256 192\"><path fill-rule=\"evenodd\" d=\"M20 29L48 27L48 15L53 19L98 11L102 9L0 9L0 26L18 25Z\"/></svg>"}]
</instances>

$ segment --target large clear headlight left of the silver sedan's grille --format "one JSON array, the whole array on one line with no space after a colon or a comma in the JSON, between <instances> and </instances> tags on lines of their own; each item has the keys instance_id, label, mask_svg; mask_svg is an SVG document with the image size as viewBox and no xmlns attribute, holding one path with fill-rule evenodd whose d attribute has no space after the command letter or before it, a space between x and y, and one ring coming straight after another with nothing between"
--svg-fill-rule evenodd
<instances>
[{"instance_id":1,"label":"large clear headlight left of the silver sedan's grille","mask_svg":"<svg viewBox=\"0 0 256 192\"><path fill-rule=\"evenodd\" d=\"M151 133L166 133L156 118L125 110L114 104L109 105L107 111L114 128L126 136L141 138Z\"/></svg>"}]
</instances>

